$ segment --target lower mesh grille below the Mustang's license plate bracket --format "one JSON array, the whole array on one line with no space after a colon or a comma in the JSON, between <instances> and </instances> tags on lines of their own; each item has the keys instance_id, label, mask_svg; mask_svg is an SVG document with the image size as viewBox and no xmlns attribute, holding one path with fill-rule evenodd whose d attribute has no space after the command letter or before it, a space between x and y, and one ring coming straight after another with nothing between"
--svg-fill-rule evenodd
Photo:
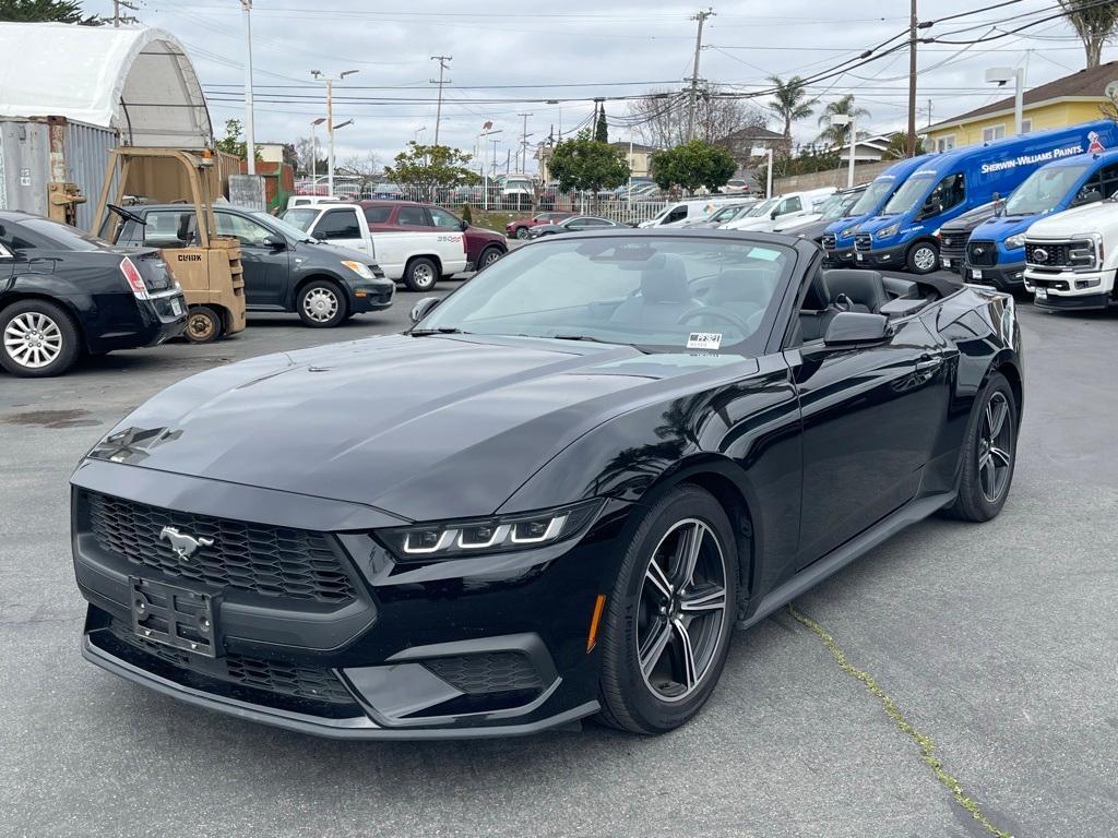
<instances>
[{"instance_id":1,"label":"lower mesh grille below the Mustang's license plate bracket","mask_svg":"<svg viewBox=\"0 0 1118 838\"><path fill-rule=\"evenodd\" d=\"M226 655L216 659L201 658L163 644L145 640L135 635L126 623L116 619L108 623L107 631L122 644L145 655L208 678L294 698L328 704L353 703L353 696L330 669L295 666L246 655Z\"/></svg>"}]
</instances>

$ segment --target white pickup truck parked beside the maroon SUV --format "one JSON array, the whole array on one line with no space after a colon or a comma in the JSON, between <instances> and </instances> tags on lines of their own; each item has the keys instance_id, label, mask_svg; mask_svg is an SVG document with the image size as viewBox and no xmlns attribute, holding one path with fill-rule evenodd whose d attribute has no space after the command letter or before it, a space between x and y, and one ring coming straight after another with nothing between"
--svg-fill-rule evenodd
<instances>
[{"instance_id":1,"label":"white pickup truck parked beside the maroon SUV","mask_svg":"<svg viewBox=\"0 0 1118 838\"><path fill-rule=\"evenodd\" d=\"M295 207L282 218L329 245L369 254L385 276L409 291L430 291L439 277L466 269L465 237L457 230L372 232L353 203Z\"/></svg>"}]
</instances>

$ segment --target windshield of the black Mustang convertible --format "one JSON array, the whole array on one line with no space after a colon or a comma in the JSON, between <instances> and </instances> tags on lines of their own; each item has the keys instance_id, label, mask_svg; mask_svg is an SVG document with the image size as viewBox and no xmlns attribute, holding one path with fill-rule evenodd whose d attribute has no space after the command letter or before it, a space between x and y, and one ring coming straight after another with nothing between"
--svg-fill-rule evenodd
<instances>
[{"instance_id":1,"label":"windshield of the black Mustang convertible","mask_svg":"<svg viewBox=\"0 0 1118 838\"><path fill-rule=\"evenodd\" d=\"M494 263L415 331L748 353L764 343L794 259L783 245L740 239L556 238Z\"/></svg>"}]
</instances>

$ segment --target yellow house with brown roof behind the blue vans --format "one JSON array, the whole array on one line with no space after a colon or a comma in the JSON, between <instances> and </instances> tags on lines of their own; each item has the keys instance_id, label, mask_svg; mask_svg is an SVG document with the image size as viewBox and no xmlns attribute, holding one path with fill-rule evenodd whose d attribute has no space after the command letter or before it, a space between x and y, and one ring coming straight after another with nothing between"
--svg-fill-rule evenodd
<instances>
[{"instance_id":1,"label":"yellow house with brown roof behind the blue vans","mask_svg":"<svg viewBox=\"0 0 1118 838\"><path fill-rule=\"evenodd\" d=\"M1065 127L1101 118L1103 106L1110 106L1111 112L1114 109L1114 103L1103 91L1115 79L1118 79L1118 61L1109 61L1026 91L1022 132ZM928 137L925 144L928 151L948 151L1012 136L1013 96L938 122L923 133Z\"/></svg>"}]
</instances>

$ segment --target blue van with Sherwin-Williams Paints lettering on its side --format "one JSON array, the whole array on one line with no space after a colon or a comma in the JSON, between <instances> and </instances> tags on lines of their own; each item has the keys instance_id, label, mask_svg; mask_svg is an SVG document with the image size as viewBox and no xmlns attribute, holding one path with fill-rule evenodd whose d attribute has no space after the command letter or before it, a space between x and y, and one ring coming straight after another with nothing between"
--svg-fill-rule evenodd
<instances>
[{"instance_id":1,"label":"blue van with Sherwin-Williams Paints lettering on its side","mask_svg":"<svg viewBox=\"0 0 1118 838\"><path fill-rule=\"evenodd\" d=\"M854 235L860 267L930 274L939 267L936 231L995 193L1008 194L1045 163L1118 145L1118 125L1099 120L938 154L912 172Z\"/></svg>"}]
</instances>

